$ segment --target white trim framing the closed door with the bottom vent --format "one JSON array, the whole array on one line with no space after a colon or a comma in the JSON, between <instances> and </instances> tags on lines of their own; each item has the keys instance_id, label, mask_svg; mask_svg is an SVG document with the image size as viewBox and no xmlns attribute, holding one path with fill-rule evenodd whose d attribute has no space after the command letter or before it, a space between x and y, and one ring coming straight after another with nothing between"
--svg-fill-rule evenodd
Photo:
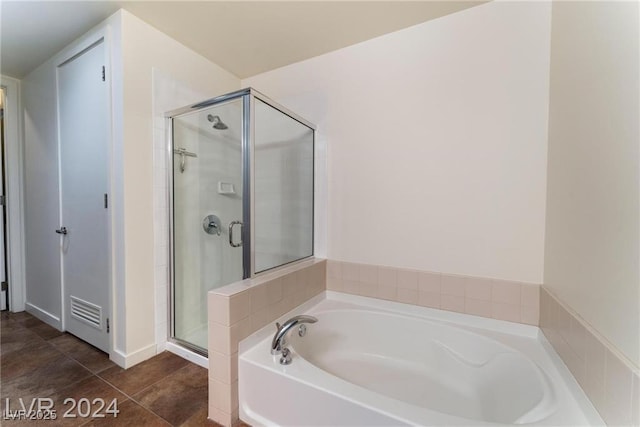
<instances>
[{"instance_id":1,"label":"white trim framing the closed door with the bottom vent","mask_svg":"<svg viewBox=\"0 0 640 427\"><path fill-rule=\"evenodd\" d=\"M58 218L62 219L62 159L60 156L61 149L61 135L60 135L60 86L59 86L59 72L60 67L69 61L74 60L76 57L85 53L97 46L98 44L104 44L104 66L105 66L105 88L107 94L107 117L105 118L107 121L107 152L108 158L106 159L107 166L107 182L109 188L109 209L107 212L108 220L107 220L107 252L109 254L109 277L107 279L107 283L109 283L109 298L108 304L109 307L106 310L106 316L111 320L110 328L111 332L109 332L109 356L112 358L114 354L114 342L115 342L115 330L116 330L116 319L115 319L115 299L114 292L116 288L115 278L116 274L114 271L114 259L116 255L114 254L114 232L117 228L115 224L115 215L114 215L114 195L117 193L114 184L114 129L113 129L113 100L112 100L112 75L111 75L111 37L110 37L110 27L109 25L105 25L102 28L97 29L96 31L92 31L83 37L81 40L77 40L73 43L68 50L66 50L56 61L56 126L57 126L57 149L58 149ZM62 330L66 330L66 316L68 304L65 300L65 283L64 283L64 260L63 254L60 252L60 299L61 299L61 309L60 309L60 324Z\"/></svg>"}]
</instances>

